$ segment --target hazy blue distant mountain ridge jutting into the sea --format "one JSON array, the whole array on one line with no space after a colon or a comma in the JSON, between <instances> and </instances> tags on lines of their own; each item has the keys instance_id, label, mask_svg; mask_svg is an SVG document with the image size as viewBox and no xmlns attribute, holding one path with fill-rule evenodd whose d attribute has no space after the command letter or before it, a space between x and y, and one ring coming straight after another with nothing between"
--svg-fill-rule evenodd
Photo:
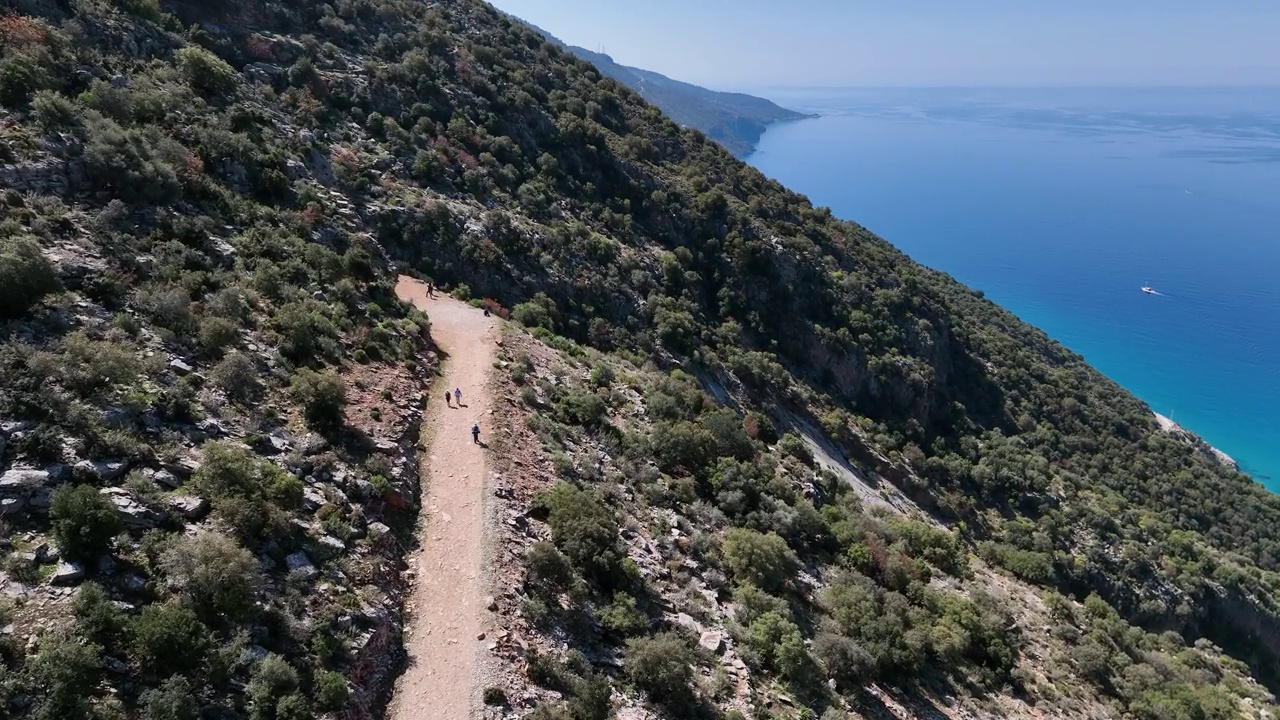
<instances>
[{"instance_id":1,"label":"hazy blue distant mountain ridge jutting into the sea","mask_svg":"<svg viewBox=\"0 0 1280 720\"><path fill-rule=\"evenodd\" d=\"M780 120L812 118L788 110L771 100L742 92L718 92L664 74L622 65L609 55L568 45L552 33L531 26L547 40L594 64L605 76L639 92L662 108L671 119L707 133L739 158L750 155L764 129Z\"/></svg>"}]
</instances>

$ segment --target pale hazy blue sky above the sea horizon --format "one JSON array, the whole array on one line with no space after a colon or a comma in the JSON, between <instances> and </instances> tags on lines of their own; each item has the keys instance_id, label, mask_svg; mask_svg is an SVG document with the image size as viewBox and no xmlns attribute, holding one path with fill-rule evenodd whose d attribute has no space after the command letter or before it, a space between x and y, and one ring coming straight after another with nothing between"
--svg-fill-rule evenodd
<instances>
[{"instance_id":1,"label":"pale hazy blue sky above the sea horizon","mask_svg":"<svg viewBox=\"0 0 1280 720\"><path fill-rule=\"evenodd\" d=\"M497 0L722 90L1280 85L1277 0Z\"/></svg>"}]
</instances>

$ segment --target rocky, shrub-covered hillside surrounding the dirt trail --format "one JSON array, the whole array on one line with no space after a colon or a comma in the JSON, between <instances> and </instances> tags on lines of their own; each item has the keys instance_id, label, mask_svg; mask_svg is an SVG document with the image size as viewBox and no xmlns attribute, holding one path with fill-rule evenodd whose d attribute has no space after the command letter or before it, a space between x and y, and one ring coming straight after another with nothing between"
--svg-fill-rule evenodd
<instances>
[{"instance_id":1,"label":"rocky, shrub-covered hillside surrounding the dirt trail","mask_svg":"<svg viewBox=\"0 0 1280 720\"><path fill-rule=\"evenodd\" d=\"M393 266L527 328L492 714L1271 716L1280 501L530 28L0 6L9 716L379 714Z\"/></svg>"}]
</instances>

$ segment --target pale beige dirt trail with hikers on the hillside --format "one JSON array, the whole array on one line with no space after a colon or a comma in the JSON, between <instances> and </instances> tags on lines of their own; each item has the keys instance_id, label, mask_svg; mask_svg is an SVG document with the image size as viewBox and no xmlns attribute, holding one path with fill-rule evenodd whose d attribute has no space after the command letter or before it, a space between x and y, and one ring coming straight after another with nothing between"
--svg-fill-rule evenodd
<instances>
[{"instance_id":1,"label":"pale beige dirt trail with hikers on the hillside","mask_svg":"<svg viewBox=\"0 0 1280 720\"><path fill-rule=\"evenodd\" d=\"M419 551L410 559L417 577L406 632L408 666L396 683L390 720L454 720L476 714L484 618L485 503L484 447L471 442L479 423L489 432L488 377L494 360L493 318L451 297L426 296L426 286L401 277L396 295L425 311L444 357L425 414L430 448L422 461L424 497ZM444 391L462 389L462 407L444 404Z\"/></svg>"}]
</instances>

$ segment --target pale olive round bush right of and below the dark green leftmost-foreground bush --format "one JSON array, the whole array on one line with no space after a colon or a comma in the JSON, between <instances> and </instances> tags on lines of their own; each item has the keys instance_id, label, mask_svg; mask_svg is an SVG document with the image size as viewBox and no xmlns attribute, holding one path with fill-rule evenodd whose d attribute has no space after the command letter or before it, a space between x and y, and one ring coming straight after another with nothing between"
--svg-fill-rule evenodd
<instances>
[{"instance_id":1,"label":"pale olive round bush right of and below the dark green leftmost-foreground bush","mask_svg":"<svg viewBox=\"0 0 1280 720\"><path fill-rule=\"evenodd\" d=\"M161 556L160 566L169 583L187 593L206 618L243 618L262 585L257 559L214 532L178 538Z\"/></svg>"}]
</instances>

